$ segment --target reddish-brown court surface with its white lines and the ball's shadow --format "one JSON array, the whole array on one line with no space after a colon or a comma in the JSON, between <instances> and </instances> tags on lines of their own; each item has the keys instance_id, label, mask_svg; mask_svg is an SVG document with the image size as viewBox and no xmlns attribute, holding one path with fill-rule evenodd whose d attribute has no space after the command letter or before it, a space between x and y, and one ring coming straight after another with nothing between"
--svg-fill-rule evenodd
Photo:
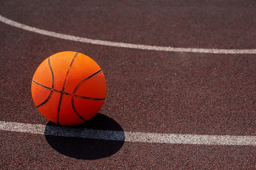
<instances>
[{"instance_id":1,"label":"reddish-brown court surface with its white lines and the ball's shadow","mask_svg":"<svg viewBox=\"0 0 256 170\"><path fill-rule=\"evenodd\" d=\"M254 0L1 0L0 169L256 169ZM74 127L31 98L38 65L90 56L106 102Z\"/></svg>"}]
</instances>

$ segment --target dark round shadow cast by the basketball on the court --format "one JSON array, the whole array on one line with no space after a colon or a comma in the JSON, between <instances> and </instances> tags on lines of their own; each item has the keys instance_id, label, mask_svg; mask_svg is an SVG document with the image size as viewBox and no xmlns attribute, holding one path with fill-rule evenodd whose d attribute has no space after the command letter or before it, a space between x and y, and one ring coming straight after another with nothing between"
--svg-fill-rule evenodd
<instances>
[{"instance_id":1,"label":"dark round shadow cast by the basketball on the court","mask_svg":"<svg viewBox=\"0 0 256 170\"><path fill-rule=\"evenodd\" d=\"M124 140L105 140L105 139L90 139L81 137L64 137L58 136L61 134L58 126L52 122L48 122L45 127L45 138L52 148L59 153L76 158L76 159L100 159L109 157L123 146ZM66 126L68 129L69 126ZM124 131L121 126L113 119L101 113L97 113L94 118L84 124L72 126L72 128L79 129L97 129L97 130L110 130L120 131L119 135L124 139ZM51 131L49 133L49 131ZM54 132L55 131L55 132ZM55 135L48 135L55 134Z\"/></svg>"}]
</instances>

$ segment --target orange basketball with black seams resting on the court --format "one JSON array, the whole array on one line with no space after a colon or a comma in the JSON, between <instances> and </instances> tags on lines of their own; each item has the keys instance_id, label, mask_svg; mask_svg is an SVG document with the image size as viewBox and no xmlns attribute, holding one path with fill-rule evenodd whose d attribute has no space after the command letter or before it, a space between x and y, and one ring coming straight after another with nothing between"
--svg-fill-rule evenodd
<instances>
[{"instance_id":1,"label":"orange basketball with black seams resting on the court","mask_svg":"<svg viewBox=\"0 0 256 170\"><path fill-rule=\"evenodd\" d=\"M61 125L90 120L106 98L106 79L99 65L79 52L59 52L34 73L31 94L40 113Z\"/></svg>"}]
</instances>

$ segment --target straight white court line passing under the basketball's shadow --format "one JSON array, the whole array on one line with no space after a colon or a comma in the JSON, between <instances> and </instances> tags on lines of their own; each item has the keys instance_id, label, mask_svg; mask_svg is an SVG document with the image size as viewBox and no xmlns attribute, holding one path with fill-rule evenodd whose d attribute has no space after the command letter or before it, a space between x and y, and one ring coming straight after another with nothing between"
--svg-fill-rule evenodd
<instances>
[{"instance_id":1,"label":"straight white court line passing under the basketball's shadow","mask_svg":"<svg viewBox=\"0 0 256 170\"><path fill-rule=\"evenodd\" d=\"M90 139L116 140L126 142L150 142L167 144L198 144L198 145L254 145L256 136L231 135L190 135L144 132L122 132L109 130L82 129L65 126L45 126L0 121L0 130L46 134L65 137L81 137Z\"/></svg>"}]
</instances>

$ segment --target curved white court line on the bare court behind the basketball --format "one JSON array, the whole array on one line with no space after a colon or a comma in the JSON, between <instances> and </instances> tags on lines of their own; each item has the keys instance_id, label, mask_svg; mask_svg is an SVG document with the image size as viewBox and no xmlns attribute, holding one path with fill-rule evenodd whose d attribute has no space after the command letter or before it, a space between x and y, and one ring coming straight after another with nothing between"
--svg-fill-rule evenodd
<instances>
[{"instance_id":1,"label":"curved white court line on the bare court behind the basketball","mask_svg":"<svg viewBox=\"0 0 256 170\"><path fill-rule=\"evenodd\" d=\"M99 39L89 39L83 37L76 37L73 35L66 35L61 33L55 33L52 31L46 31L43 29L27 26L25 24L18 23L0 15L0 21L5 24L21 28L23 30L31 31L41 35L47 35L50 37L56 37L60 39L67 39L72 41L78 41L83 43L97 44L103 46L123 47L123 48L135 48L141 50L157 50L157 51L170 51L170 52L198 52L198 53L213 53L213 54L256 54L256 49L207 49L207 48L174 48L174 47L162 47L162 46L148 46L141 44L128 44L123 42L103 41Z\"/></svg>"}]
</instances>

